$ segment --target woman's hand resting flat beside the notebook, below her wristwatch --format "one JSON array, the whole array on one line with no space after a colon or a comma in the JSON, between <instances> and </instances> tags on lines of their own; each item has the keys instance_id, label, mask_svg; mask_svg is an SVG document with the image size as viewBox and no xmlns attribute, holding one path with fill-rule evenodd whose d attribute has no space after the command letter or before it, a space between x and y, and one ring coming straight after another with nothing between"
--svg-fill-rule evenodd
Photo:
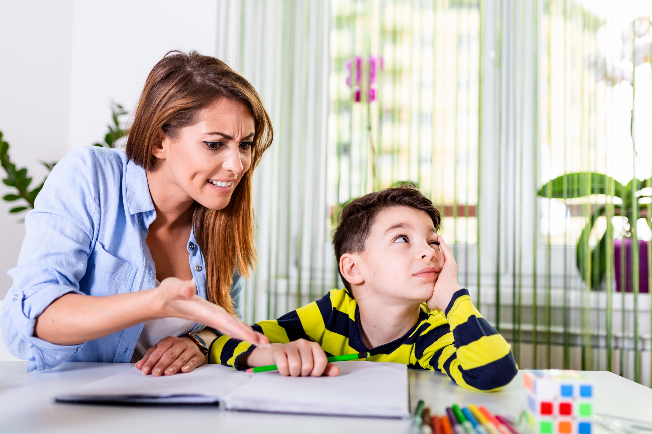
<instances>
[{"instance_id":1,"label":"woman's hand resting flat beside the notebook, below her wristwatch","mask_svg":"<svg viewBox=\"0 0 652 434\"><path fill-rule=\"evenodd\" d=\"M203 365L206 359L190 338L168 336L148 349L145 356L136 363L136 368L140 369L143 375L151 373L158 377L163 374L173 375L179 370L190 372Z\"/></svg>"}]
</instances>

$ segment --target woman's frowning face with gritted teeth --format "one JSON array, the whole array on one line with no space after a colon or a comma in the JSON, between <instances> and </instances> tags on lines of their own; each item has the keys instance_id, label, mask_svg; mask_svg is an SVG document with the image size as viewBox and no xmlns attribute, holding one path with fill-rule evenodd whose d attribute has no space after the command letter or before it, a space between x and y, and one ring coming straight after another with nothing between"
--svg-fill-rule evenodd
<instances>
[{"instance_id":1,"label":"woman's frowning face with gritted teeth","mask_svg":"<svg viewBox=\"0 0 652 434\"><path fill-rule=\"evenodd\" d=\"M159 159L154 172L165 173L170 198L183 192L206 208L221 210L251 165L253 140L249 107L220 98L174 140L161 133L153 147Z\"/></svg>"}]
</instances>

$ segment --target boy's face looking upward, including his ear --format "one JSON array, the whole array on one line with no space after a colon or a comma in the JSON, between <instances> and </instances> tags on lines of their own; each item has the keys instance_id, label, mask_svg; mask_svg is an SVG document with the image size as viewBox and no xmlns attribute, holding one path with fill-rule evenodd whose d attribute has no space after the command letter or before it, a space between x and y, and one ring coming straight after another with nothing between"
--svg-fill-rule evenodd
<instances>
[{"instance_id":1,"label":"boy's face looking upward, including his ear","mask_svg":"<svg viewBox=\"0 0 652 434\"><path fill-rule=\"evenodd\" d=\"M364 252L344 256L350 260L340 260L340 267L355 273L350 280L344 273L357 286L355 292L412 303L432 297L444 263L432 219L424 211L407 206L380 211ZM348 262L352 266L346 269Z\"/></svg>"}]
</instances>

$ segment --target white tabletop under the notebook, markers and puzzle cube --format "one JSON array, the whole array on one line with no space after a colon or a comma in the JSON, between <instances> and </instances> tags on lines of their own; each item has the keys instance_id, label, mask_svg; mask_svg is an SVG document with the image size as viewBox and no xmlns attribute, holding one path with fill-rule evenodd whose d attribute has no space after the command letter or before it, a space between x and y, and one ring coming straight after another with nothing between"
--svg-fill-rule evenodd
<instances>
[{"instance_id":1,"label":"white tabletop under the notebook, markers and puzzle cube","mask_svg":"<svg viewBox=\"0 0 652 434\"><path fill-rule=\"evenodd\" d=\"M409 433L409 420L237 413L216 407L120 407L73 405L53 396L134 366L130 363L66 362L47 372L25 372L26 362L0 362L0 432L8 433ZM591 371L595 412L652 422L652 390L610 372ZM410 370L411 405L419 399L437 414L452 403L485 405L518 413L526 392L522 373L492 394L455 386L439 373ZM602 429L595 431L604 433Z\"/></svg>"}]
</instances>

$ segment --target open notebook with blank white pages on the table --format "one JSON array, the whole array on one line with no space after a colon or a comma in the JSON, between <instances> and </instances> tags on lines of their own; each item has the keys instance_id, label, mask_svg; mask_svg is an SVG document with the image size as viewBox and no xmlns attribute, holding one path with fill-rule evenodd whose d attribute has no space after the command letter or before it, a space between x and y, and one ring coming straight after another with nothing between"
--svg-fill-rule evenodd
<instances>
[{"instance_id":1,"label":"open notebook with blank white pages on the table","mask_svg":"<svg viewBox=\"0 0 652 434\"><path fill-rule=\"evenodd\" d=\"M55 397L67 403L211 404L227 410L409 417L408 367L336 362L337 377L283 377L209 364L190 373L153 377L132 368Z\"/></svg>"}]
</instances>

